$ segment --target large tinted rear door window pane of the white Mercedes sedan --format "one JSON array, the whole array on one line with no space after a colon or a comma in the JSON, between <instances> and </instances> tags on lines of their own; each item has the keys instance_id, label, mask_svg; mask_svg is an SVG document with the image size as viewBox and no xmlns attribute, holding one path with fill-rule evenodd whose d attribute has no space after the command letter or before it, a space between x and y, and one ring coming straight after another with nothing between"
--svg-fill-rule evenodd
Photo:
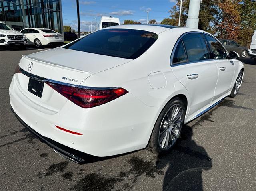
<instances>
[{"instance_id":1,"label":"large tinted rear door window pane of the white Mercedes sedan","mask_svg":"<svg viewBox=\"0 0 256 191\"><path fill-rule=\"evenodd\" d=\"M201 34L187 34L182 37L182 40L188 55L188 62L207 60L210 58Z\"/></svg>"}]
</instances>

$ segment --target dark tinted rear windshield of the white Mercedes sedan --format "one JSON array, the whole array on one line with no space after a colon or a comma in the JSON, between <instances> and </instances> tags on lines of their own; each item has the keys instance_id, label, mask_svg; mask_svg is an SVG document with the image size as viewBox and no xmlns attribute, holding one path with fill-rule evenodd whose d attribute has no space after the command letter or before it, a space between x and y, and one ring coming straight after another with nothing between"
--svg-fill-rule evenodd
<instances>
[{"instance_id":1,"label":"dark tinted rear windshield of the white Mercedes sedan","mask_svg":"<svg viewBox=\"0 0 256 191\"><path fill-rule=\"evenodd\" d=\"M156 33L133 29L104 29L64 48L113 57L136 59L157 40Z\"/></svg>"}]
</instances>

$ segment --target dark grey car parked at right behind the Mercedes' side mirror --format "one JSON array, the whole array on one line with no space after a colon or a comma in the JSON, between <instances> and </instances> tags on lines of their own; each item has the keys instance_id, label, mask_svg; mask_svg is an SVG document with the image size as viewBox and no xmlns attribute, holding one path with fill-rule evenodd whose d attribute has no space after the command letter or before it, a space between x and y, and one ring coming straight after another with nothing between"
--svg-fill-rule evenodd
<instances>
[{"instance_id":1,"label":"dark grey car parked at right behind the Mercedes' side mirror","mask_svg":"<svg viewBox=\"0 0 256 191\"><path fill-rule=\"evenodd\" d=\"M219 41L224 45L228 52L235 51L240 57L244 58L247 56L248 48L240 46L238 43L228 39L219 39Z\"/></svg>"}]
</instances>

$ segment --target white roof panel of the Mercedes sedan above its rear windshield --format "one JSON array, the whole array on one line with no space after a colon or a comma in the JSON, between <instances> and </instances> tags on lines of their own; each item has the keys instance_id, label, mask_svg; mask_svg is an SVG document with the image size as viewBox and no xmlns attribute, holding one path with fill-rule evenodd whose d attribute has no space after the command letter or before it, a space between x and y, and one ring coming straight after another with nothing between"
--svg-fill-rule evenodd
<instances>
[{"instance_id":1,"label":"white roof panel of the Mercedes sedan above its rear windshield","mask_svg":"<svg viewBox=\"0 0 256 191\"><path fill-rule=\"evenodd\" d=\"M161 32L164 32L166 30L175 30L178 32L205 32L203 30L194 29L194 28L187 28L187 27L178 27L178 26L171 26L171 25L154 25L154 24L129 24L129 25L116 25L104 28L102 30L106 29L136 29L136 30L145 30L149 32L153 32L156 34L159 34ZM209 33L208 33L209 34Z\"/></svg>"}]
</instances>

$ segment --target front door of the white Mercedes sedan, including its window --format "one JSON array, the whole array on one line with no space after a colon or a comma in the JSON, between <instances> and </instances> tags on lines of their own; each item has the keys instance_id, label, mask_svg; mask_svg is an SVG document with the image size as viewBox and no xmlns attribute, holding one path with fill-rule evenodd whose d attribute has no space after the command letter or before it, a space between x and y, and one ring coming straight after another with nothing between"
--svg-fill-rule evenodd
<instances>
[{"instance_id":1,"label":"front door of the white Mercedes sedan, including its window","mask_svg":"<svg viewBox=\"0 0 256 191\"><path fill-rule=\"evenodd\" d=\"M228 59L226 50L214 37L207 34L204 34L204 36L210 47L211 57L215 60L218 68L218 81L214 93L214 101L230 91L235 65L232 60Z\"/></svg>"}]
</instances>

